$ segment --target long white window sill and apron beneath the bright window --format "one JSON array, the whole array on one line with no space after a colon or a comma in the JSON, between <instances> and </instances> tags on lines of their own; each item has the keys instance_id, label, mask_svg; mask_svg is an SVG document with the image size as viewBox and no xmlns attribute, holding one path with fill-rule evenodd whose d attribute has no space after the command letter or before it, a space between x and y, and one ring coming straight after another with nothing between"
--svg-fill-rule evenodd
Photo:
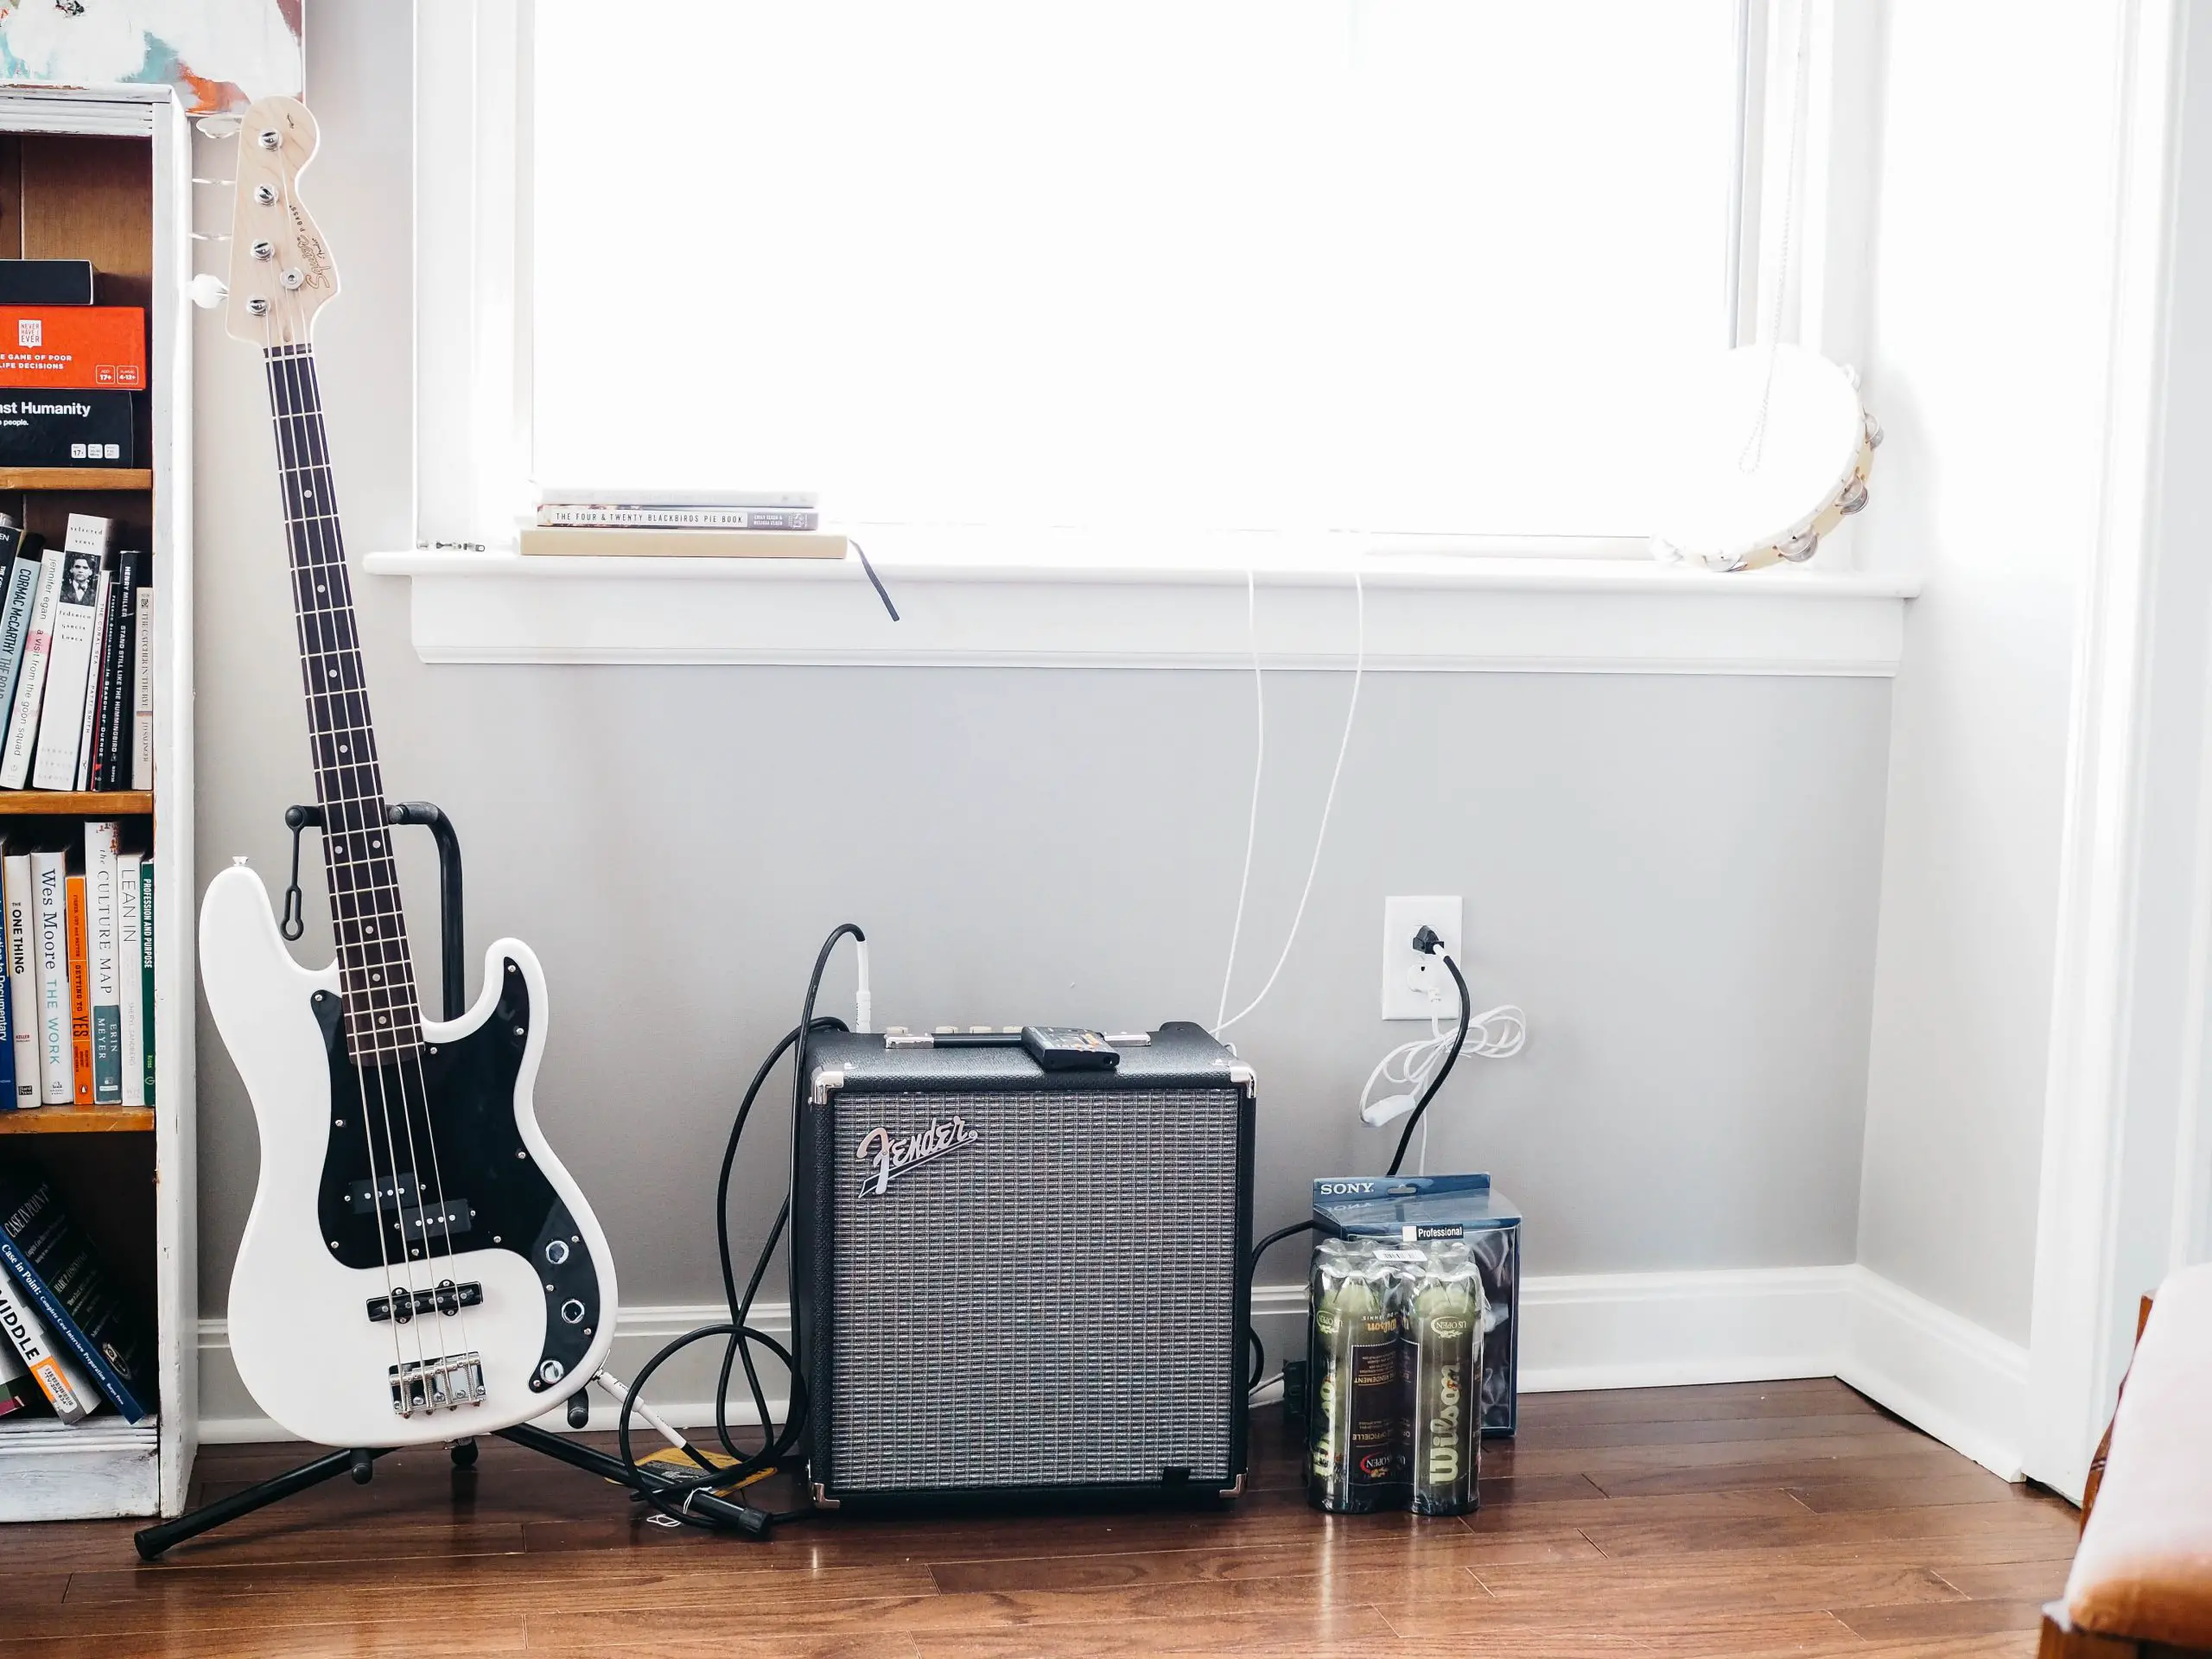
<instances>
[{"instance_id":1,"label":"long white window sill and apron beneath the bright window","mask_svg":"<svg viewBox=\"0 0 2212 1659\"><path fill-rule=\"evenodd\" d=\"M962 535L860 538L905 617L856 560L580 560L372 553L411 582L416 653L431 664L914 664L1248 668L1245 568L1256 571L1270 668L1352 668L1352 555L1283 538L1097 557L1051 538L1040 560ZM945 557L958 553L958 562ZM1026 555L1026 557L1024 557ZM1170 562L1172 560L1172 562ZM1367 666L1635 675L1896 675L1898 575L1772 568L1743 575L1639 560L1374 553L1360 560Z\"/></svg>"}]
</instances>

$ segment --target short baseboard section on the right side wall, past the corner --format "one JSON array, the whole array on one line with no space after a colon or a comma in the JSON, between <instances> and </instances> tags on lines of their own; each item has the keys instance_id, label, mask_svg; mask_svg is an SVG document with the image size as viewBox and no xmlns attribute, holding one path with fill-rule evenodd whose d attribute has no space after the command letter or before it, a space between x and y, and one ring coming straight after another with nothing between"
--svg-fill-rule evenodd
<instances>
[{"instance_id":1,"label":"short baseboard section on the right side wall, past the corner","mask_svg":"<svg viewBox=\"0 0 2212 1659\"><path fill-rule=\"evenodd\" d=\"M1916 1429L2020 1480L2028 1349L1938 1307L1869 1267L1845 1267L1845 1383Z\"/></svg>"}]
</instances>

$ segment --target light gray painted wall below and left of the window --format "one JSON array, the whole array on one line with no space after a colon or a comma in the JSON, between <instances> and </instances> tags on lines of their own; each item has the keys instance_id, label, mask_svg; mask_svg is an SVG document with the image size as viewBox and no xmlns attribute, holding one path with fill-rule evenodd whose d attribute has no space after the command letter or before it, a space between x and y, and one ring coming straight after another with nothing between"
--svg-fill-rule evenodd
<instances>
[{"instance_id":1,"label":"light gray painted wall below and left of the window","mask_svg":"<svg viewBox=\"0 0 2212 1659\"><path fill-rule=\"evenodd\" d=\"M400 15L321 0L312 29L307 186L345 281L319 345L356 555L409 538ZM281 885L279 814L310 776L259 367L206 321L199 352L201 880L248 854ZM387 783L465 836L471 951L518 933L546 962L540 1115L628 1303L714 1294L714 1150L836 920L876 940L885 1022L1212 1015L1252 765L1241 675L429 668L400 582L363 580L361 608ZM1347 688L1270 677L1248 993ZM1478 998L1522 1002L1533 1035L1462 1066L1431 1168L1495 1170L1531 1214L1531 1270L1851 1261L1887 732L1885 681L1369 679L1296 956L1237 1033L1261 1075L1259 1221L1303 1212L1312 1175L1380 1168L1354 1095L1418 1031L1376 1020L1380 900L1458 891ZM425 854L418 940L427 874ZM303 958L325 940L316 920ZM849 964L834 984L849 1006ZM206 1024L201 1055L217 1314L254 1128ZM741 1237L772 1212L781 1119L759 1119Z\"/></svg>"}]
</instances>

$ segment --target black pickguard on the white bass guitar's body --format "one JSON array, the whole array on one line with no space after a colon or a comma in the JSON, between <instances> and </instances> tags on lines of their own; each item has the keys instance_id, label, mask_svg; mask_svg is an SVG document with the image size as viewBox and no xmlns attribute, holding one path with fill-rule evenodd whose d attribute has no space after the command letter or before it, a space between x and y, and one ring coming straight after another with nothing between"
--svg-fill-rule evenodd
<instances>
[{"instance_id":1,"label":"black pickguard on the white bass guitar's body","mask_svg":"<svg viewBox=\"0 0 2212 1659\"><path fill-rule=\"evenodd\" d=\"M531 993L511 960L502 962L500 980L491 1018L467 1037L425 1042L420 1071L416 1062L356 1068L338 998L314 993L330 1055L330 1141L316 1212L334 1261L372 1272L389 1267L398 1290L407 1287L403 1256L414 1265L416 1290L431 1290L447 1276L436 1259L451 1252L509 1250L526 1259L538 1270L546 1316L531 1387L568 1394L584 1385L571 1374L599 1329L599 1270L582 1228L515 1128L515 1075L529 1042ZM403 1097L414 1117L411 1150ZM387 1146L387 1124L394 1146ZM436 1159L425 1130L436 1135ZM557 1367L553 1376L546 1376L549 1363Z\"/></svg>"}]
</instances>

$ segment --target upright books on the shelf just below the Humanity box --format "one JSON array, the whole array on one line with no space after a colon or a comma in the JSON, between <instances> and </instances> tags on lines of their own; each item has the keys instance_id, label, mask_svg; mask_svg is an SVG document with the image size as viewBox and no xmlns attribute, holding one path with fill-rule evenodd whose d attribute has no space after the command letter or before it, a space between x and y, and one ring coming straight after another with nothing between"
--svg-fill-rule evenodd
<instances>
[{"instance_id":1,"label":"upright books on the shelf just below the Humanity box","mask_svg":"<svg viewBox=\"0 0 2212 1659\"><path fill-rule=\"evenodd\" d=\"M153 573L108 531L0 524L0 790L153 787Z\"/></svg>"}]
</instances>

